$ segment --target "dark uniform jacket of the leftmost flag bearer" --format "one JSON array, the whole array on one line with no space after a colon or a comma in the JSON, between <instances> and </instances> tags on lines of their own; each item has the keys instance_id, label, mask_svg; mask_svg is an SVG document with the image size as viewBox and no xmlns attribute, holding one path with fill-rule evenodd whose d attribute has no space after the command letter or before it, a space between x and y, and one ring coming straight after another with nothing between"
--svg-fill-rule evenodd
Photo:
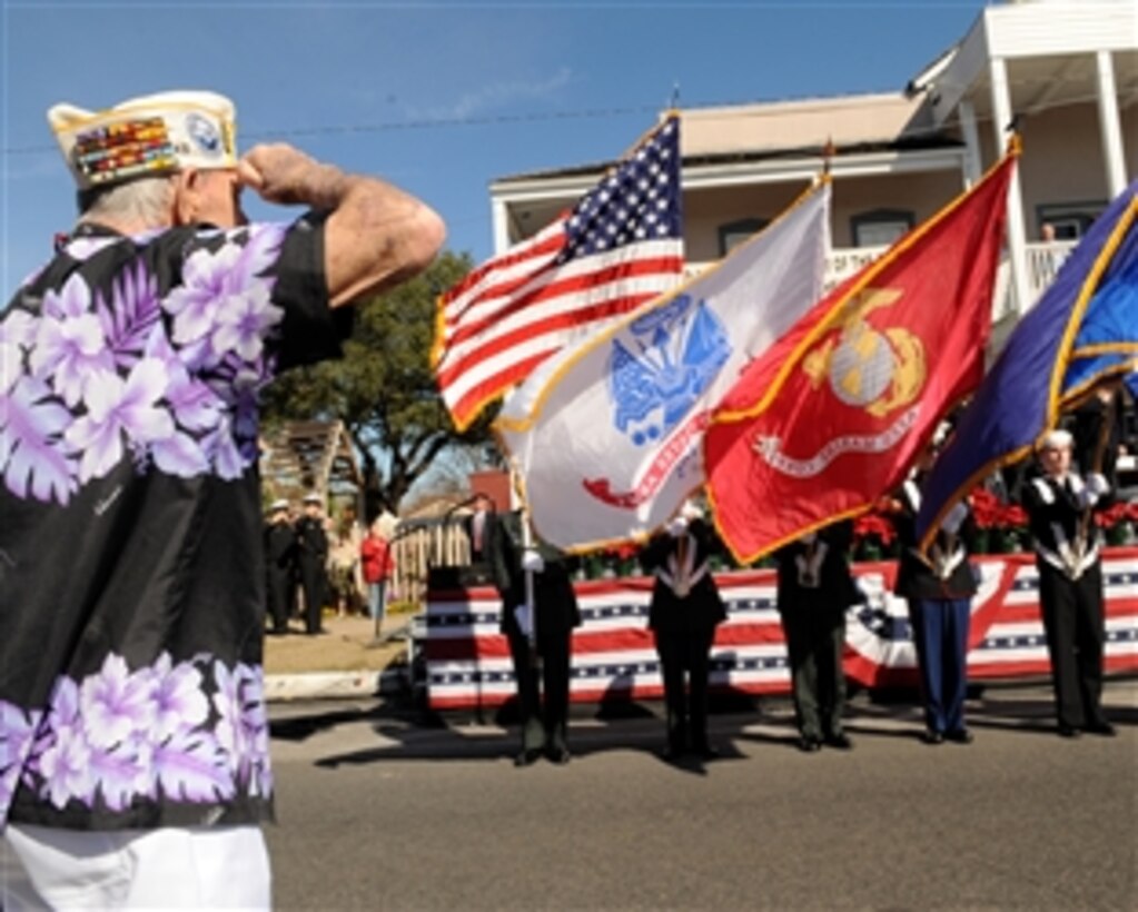
<instances>
[{"instance_id":1,"label":"dark uniform jacket of the leftmost flag bearer","mask_svg":"<svg viewBox=\"0 0 1138 912\"><path fill-rule=\"evenodd\" d=\"M514 608L526 604L526 572L521 569L525 552L521 514L487 514L489 527L489 561L494 584L502 596L502 632L521 635ZM563 552L534 539L531 547L542 556L545 569L534 573L534 603L536 628L539 637L564 633L580 625L580 611L570 577L577 559Z\"/></svg>"}]
</instances>

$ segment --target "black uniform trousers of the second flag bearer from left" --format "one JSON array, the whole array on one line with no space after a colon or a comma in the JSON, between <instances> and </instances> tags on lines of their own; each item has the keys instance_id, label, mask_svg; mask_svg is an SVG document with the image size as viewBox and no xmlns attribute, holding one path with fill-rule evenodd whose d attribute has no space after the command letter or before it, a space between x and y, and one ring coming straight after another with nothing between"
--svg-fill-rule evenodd
<instances>
[{"instance_id":1,"label":"black uniform trousers of the second flag bearer from left","mask_svg":"<svg viewBox=\"0 0 1138 912\"><path fill-rule=\"evenodd\" d=\"M674 752L688 747L703 751L708 746L708 672L715 629L654 633L663 677L668 747Z\"/></svg>"}]
</instances>

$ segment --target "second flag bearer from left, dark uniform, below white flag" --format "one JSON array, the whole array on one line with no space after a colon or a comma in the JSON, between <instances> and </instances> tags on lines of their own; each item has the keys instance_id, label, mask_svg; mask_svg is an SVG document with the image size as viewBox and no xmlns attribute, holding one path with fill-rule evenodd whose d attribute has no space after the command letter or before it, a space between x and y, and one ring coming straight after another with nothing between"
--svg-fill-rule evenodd
<instances>
[{"instance_id":1,"label":"second flag bearer from left, dark uniform, below white flag","mask_svg":"<svg viewBox=\"0 0 1138 912\"><path fill-rule=\"evenodd\" d=\"M712 547L703 511L688 500L641 552L645 572L655 575L648 625L663 677L662 756L669 762L688 752L703 760L718 755L708 741L708 674L715 629L727 610L708 563Z\"/></svg>"}]
</instances>

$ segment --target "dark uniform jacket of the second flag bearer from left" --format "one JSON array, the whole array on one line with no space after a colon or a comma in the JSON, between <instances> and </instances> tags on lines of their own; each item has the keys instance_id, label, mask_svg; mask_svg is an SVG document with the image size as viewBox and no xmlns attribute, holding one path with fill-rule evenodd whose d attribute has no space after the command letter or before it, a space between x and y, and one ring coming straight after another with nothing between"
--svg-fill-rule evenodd
<instances>
[{"instance_id":1,"label":"dark uniform jacket of the second flag bearer from left","mask_svg":"<svg viewBox=\"0 0 1138 912\"><path fill-rule=\"evenodd\" d=\"M707 523L695 520L683 539L686 540L683 563L679 562L681 539L666 532L654 536L641 553L645 572L655 574L648 619L651 630L707 631L727 617L708 564L714 542ZM686 596L676 592L682 578L693 581Z\"/></svg>"}]
</instances>

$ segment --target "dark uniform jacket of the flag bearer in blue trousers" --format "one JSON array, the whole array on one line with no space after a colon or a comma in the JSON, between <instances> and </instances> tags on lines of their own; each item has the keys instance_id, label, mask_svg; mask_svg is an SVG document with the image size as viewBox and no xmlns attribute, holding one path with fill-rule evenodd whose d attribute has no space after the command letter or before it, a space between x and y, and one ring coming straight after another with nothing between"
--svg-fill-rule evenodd
<instances>
[{"instance_id":1,"label":"dark uniform jacket of the flag bearer in blue trousers","mask_svg":"<svg viewBox=\"0 0 1138 912\"><path fill-rule=\"evenodd\" d=\"M955 533L938 529L937 537L929 546L927 557L922 557L917 552L916 539L922 481L922 478L916 478L897 491L901 512L892 519L897 539L901 545L901 555L893 591L901 598L909 599L968 598L976 591L976 575L972 564L968 563L968 554L964 547L972 514L968 514Z\"/></svg>"}]
</instances>

